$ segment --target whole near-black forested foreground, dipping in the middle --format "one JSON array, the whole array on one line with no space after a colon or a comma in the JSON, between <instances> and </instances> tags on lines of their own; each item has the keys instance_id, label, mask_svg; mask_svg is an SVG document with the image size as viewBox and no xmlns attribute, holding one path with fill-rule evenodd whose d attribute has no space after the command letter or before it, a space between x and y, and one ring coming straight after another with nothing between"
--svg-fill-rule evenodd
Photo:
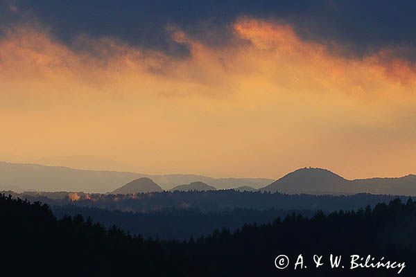
<instances>
[{"instance_id":1,"label":"whole near-black forested foreground, dipping in the middle","mask_svg":"<svg viewBox=\"0 0 416 277\"><path fill-rule=\"evenodd\" d=\"M57 220L46 205L0 197L3 276L397 276L399 269L349 269L349 256L406 262L416 273L416 203L286 217L189 242L143 240L83 217ZM331 269L329 255L343 255ZM291 259L286 269L275 258ZM305 269L294 270L297 255ZM323 255L315 269L313 254Z\"/></svg>"}]
</instances>

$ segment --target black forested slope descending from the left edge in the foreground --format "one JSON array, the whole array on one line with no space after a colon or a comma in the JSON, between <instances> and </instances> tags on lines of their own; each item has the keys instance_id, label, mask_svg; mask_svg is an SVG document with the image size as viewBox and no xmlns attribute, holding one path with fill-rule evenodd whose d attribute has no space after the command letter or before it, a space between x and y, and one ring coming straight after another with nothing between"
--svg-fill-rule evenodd
<instances>
[{"instance_id":1,"label":"black forested slope descending from the left edge in the foreground","mask_svg":"<svg viewBox=\"0 0 416 277\"><path fill-rule=\"evenodd\" d=\"M0 196L2 276L183 276L162 244ZM182 269L181 269L182 270ZM156 274L156 275L155 275Z\"/></svg>"}]
</instances>

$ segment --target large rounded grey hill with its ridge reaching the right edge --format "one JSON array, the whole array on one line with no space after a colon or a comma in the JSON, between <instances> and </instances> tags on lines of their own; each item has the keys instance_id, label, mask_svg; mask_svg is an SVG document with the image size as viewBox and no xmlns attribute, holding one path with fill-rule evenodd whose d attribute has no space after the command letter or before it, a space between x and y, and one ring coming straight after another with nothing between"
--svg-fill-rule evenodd
<instances>
[{"instance_id":1,"label":"large rounded grey hill with its ridge reaching the right edge","mask_svg":"<svg viewBox=\"0 0 416 277\"><path fill-rule=\"evenodd\" d=\"M261 188L271 193L416 195L416 175L348 180L322 168L300 168Z\"/></svg>"}]
</instances>

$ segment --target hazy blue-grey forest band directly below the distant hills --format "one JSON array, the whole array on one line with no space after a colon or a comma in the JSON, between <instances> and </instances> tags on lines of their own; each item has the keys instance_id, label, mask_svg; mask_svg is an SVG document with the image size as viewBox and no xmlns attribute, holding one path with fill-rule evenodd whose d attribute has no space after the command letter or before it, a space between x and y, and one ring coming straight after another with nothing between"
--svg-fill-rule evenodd
<instances>
[{"instance_id":1,"label":"hazy blue-grey forest band directly below the distant hills","mask_svg":"<svg viewBox=\"0 0 416 277\"><path fill-rule=\"evenodd\" d=\"M388 203L397 196L392 195L285 195L281 193L239 192L236 190L138 193L136 195L87 195L72 202L66 199L50 199L34 195L21 195L31 201L42 201L55 205L74 204L107 208L109 210L146 213L168 209L197 209L198 211L232 211L235 208L255 210L309 210L337 211L358 209L367 204ZM406 201L407 197L400 197Z\"/></svg>"}]
</instances>

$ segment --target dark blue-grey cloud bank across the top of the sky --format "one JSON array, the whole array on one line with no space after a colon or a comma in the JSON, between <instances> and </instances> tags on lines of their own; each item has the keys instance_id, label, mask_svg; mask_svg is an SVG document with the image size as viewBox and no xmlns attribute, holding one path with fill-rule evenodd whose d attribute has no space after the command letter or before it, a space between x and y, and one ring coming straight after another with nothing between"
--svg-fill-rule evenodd
<instances>
[{"instance_id":1,"label":"dark blue-grey cloud bank across the top of the sky","mask_svg":"<svg viewBox=\"0 0 416 277\"><path fill-rule=\"evenodd\" d=\"M230 24L242 16L275 19L293 27L304 39L343 44L343 54L365 55L380 48L414 59L416 3L409 1L46 1L6 0L0 6L2 25L37 21L62 42L80 35L112 37L130 46L187 55L166 26L177 24L197 39L225 44ZM209 31L210 35L207 36Z\"/></svg>"}]
</instances>

